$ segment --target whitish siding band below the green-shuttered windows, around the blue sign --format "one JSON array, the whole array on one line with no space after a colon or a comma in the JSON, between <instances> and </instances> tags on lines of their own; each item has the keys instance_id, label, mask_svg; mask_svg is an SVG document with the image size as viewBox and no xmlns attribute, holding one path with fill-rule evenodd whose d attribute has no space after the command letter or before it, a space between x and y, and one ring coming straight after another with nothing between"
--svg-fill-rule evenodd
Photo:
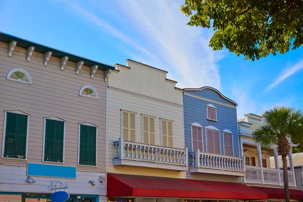
<instances>
[{"instance_id":1,"label":"whitish siding band below the green-shuttered windows, around the blue sign","mask_svg":"<svg viewBox=\"0 0 303 202\"><path fill-rule=\"evenodd\" d=\"M4 166L0 165L0 190L8 192L34 192L34 193L53 193L51 191L51 181L58 180L53 177L36 177L34 184L26 182L27 167L24 166ZM81 172L77 171L76 179L60 179L65 184L68 183L67 191L70 194L96 194L106 195L106 181L99 182L99 176L106 176L105 173ZM95 186L88 183L89 180L95 181Z\"/></svg>"}]
</instances>

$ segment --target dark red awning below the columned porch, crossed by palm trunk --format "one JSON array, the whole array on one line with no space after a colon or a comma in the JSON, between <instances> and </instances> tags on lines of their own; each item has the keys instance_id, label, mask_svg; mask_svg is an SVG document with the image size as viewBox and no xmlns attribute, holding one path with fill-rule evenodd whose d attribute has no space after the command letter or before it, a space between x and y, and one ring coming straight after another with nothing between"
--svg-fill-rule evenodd
<instances>
[{"instance_id":1,"label":"dark red awning below the columned porch, crossed by palm trunk","mask_svg":"<svg viewBox=\"0 0 303 202\"><path fill-rule=\"evenodd\" d=\"M284 188L272 188L254 186L255 189L267 193L267 197L271 199L285 199ZM293 200L303 200L303 191L298 189L289 189L289 197Z\"/></svg>"}]
</instances>

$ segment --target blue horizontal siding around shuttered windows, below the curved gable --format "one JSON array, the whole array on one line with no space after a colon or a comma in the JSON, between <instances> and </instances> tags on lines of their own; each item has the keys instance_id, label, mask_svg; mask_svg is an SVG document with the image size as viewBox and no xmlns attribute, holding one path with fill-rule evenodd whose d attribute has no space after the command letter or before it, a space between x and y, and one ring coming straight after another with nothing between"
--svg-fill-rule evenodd
<instances>
[{"instance_id":1,"label":"blue horizontal siding around shuttered windows, below the curved gable","mask_svg":"<svg viewBox=\"0 0 303 202\"><path fill-rule=\"evenodd\" d=\"M185 147L191 151L191 124L198 123L203 126L203 147L206 152L206 126L214 126L220 130L221 150L223 151L223 130L228 129L232 132L234 156L239 157L239 141L237 132L237 114L236 109L211 103L206 100L197 99L187 95L183 95L184 102L184 134ZM217 108L217 121L207 120L208 104L213 104Z\"/></svg>"}]
</instances>

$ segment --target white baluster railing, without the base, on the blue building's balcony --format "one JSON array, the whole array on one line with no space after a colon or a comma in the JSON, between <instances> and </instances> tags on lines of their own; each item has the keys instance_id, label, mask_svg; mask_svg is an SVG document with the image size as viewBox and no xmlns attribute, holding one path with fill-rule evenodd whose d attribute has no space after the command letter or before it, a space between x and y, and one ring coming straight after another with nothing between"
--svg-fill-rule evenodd
<instances>
[{"instance_id":1,"label":"white baluster railing, without the base, on the blue building's balcony","mask_svg":"<svg viewBox=\"0 0 303 202\"><path fill-rule=\"evenodd\" d=\"M196 168L211 167L220 170L244 171L244 161L242 158L203 153L199 149L190 153L190 155L192 157L192 166Z\"/></svg>"}]
</instances>

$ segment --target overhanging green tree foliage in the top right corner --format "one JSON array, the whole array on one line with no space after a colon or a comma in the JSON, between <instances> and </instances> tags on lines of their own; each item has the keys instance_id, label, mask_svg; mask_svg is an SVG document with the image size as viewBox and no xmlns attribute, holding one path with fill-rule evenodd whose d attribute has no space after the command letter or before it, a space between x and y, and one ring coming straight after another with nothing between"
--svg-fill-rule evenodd
<instances>
[{"instance_id":1,"label":"overhanging green tree foliage in the top right corner","mask_svg":"<svg viewBox=\"0 0 303 202\"><path fill-rule=\"evenodd\" d=\"M224 46L245 60L284 54L303 44L302 0L185 0L188 25L213 27L214 50Z\"/></svg>"}]
</instances>

